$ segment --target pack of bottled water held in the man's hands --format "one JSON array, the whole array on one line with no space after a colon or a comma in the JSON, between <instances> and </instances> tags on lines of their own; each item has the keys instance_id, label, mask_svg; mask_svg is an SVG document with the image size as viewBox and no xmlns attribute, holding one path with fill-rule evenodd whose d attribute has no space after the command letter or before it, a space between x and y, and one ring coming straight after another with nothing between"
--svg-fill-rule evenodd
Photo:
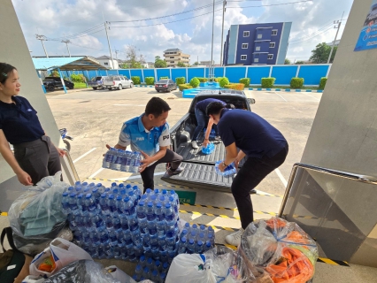
<instances>
[{"instance_id":1,"label":"pack of bottled water held in the man's hands","mask_svg":"<svg viewBox=\"0 0 377 283\"><path fill-rule=\"evenodd\" d=\"M104 155L102 167L121 172L139 172L142 164L142 153L135 151L125 151L122 149L111 148Z\"/></svg>"}]
</instances>

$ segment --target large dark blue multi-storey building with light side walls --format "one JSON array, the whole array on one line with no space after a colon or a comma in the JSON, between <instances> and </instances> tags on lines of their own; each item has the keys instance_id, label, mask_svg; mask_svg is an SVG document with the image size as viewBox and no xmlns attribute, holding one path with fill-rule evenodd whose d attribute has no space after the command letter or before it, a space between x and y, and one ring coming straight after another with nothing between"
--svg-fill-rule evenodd
<instances>
[{"instance_id":1,"label":"large dark blue multi-storey building with light side walls","mask_svg":"<svg viewBox=\"0 0 377 283\"><path fill-rule=\"evenodd\" d=\"M291 22L232 25L223 65L284 65L291 27Z\"/></svg>"}]
</instances>

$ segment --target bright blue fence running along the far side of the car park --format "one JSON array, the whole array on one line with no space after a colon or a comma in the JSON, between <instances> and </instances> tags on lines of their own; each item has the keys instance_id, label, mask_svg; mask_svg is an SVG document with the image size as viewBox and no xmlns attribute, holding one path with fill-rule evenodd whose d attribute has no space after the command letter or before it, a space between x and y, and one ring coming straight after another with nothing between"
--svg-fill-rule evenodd
<instances>
[{"instance_id":1,"label":"bright blue fence running along the far side of the car park","mask_svg":"<svg viewBox=\"0 0 377 283\"><path fill-rule=\"evenodd\" d=\"M239 82L242 78L250 78L251 85L260 85L262 78L276 78L275 85L289 85L290 80L295 77L304 78L306 86L319 85L322 77L327 77L331 65L249 65L249 66L226 66L215 67L215 77L224 75L230 82ZM70 72L65 72L67 77ZM97 75L114 75L122 74L128 78L139 76L142 82L146 77L154 77L155 81L161 77L168 77L175 80L177 77L185 77L189 82L194 77L209 77L210 69L208 67L190 67L190 68L165 68L165 69L119 69L119 70L97 70L97 71L75 71L74 73L83 73L89 79Z\"/></svg>"}]
</instances>

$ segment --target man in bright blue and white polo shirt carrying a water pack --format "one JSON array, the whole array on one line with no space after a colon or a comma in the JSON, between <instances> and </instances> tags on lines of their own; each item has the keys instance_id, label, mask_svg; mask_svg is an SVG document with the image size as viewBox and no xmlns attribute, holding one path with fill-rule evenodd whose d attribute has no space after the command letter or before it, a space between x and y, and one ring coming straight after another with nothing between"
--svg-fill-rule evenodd
<instances>
[{"instance_id":1,"label":"man in bright blue and white polo shirt carrying a water pack","mask_svg":"<svg viewBox=\"0 0 377 283\"><path fill-rule=\"evenodd\" d=\"M154 188L153 175L160 163L170 164L166 173L179 174L183 168L183 157L168 149L171 144L169 125L166 122L170 107L159 97L152 97L145 107L145 112L125 122L119 134L115 149L126 150L131 145L133 151L142 152L144 159L140 167L144 192ZM110 148L109 145L106 145Z\"/></svg>"}]
</instances>

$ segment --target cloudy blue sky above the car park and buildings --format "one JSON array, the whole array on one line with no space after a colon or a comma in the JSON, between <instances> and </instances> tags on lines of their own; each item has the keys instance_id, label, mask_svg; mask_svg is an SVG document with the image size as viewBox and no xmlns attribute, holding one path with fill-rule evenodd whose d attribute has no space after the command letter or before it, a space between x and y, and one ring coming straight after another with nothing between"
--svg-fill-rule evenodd
<instances>
[{"instance_id":1,"label":"cloudy blue sky above the car park and buildings","mask_svg":"<svg viewBox=\"0 0 377 283\"><path fill-rule=\"evenodd\" d=\"M215 1L213 60L220 61L222 0ZM372 2L372 0L371 0ZM12 0L32 56L44 56L44 35L50 56L110 56L104 29L108 30L112 56L126 59L127 45L135 46L146 61L163 51L179 48L190 63L211 60L213 0ZM238 0L227 1L224 38L231 25L291 21L287 57L307 60L320 42L333 42L334 21L344 12L338 39L350 13L352 0ZM365 11L366 16L367 11ZM345 19L345 20L344 20ZM118 50L117 54L115 50Z\"/></svg>"}]
</instances>

